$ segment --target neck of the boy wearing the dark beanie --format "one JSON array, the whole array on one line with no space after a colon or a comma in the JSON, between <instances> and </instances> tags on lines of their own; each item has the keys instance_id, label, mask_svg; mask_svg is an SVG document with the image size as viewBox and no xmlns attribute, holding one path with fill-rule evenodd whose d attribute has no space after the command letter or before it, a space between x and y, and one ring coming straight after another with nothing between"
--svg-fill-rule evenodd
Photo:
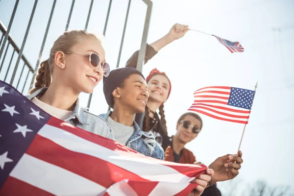
<instances>
[{"instance_id":1,"label":"neck of the boy wearing the dark beanie","mask_svg":"<svg viewBox=\"0 0 294 196\"><path fill-rule=\"evenodd\" d=\"M109 115L115 122L126 126L133 126L134 112L129 112L127 109L114 105L113 112Z\"/></svg>"}]
</instances>

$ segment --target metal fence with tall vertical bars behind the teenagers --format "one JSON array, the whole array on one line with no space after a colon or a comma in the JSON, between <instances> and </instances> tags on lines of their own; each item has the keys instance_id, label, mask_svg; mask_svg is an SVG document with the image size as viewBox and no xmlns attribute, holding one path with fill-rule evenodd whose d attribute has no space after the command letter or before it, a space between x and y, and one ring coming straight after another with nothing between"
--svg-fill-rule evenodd
<instances>
[{"instance_id":1,"label":"metal fence with tall vertical bars behind the teenagers","mask_svg":"<svg viewBox=\"0 0 294 196\"><path fill-rule=\"evenodd\" d=\"M42 42L42 46L41 46L39 55L36 56L37 63L34 66L32 66L29 63L29 61L27 60L27 58L25 58L24 48L25 48L25 42L26 42L27 36L29 34L30 26L32 24L32 20L34 18L34 14L36 11L38 0L34 1L34 5L33 5L33 8L32 8L31 14L30 14L30 18L28 21L28 25L25 30L25 36L23 38L22 45L20 48L17 46L16 42L12 38L13 35L10 34L10 29L11 29L11 26L13 25L13 20L14 20L16 11L17 11L17 9L22 9L21 7L18 7L19 0L16 0L16 2L14 4L13 12L11 14L9 25L7 26L7 28L2 24L1 19L0 19L0 30L2 32L2 36L0 39L0 62L1 62L0 72L1 73L3 72L3 70L1 70L3 67L3 64L6 62L5 58L10 58L8 69L6 70L5 76L4 76L4 78L0 78L0 79L4 80L6 82L9 81L9 83L11 85L13 85L15 88L17 88L23 94L27 93L27 92L24 92L25 87L27 85L29 85L29 89L31 89L32 85L34 83L34 78L35 78L36 72L37 72L39 64L40 64L40 59L42 58L45 43L47 41L47 36L48 36L49 29L50 29L51 19L52 19L53 13L54 13L56 1L57 0L53 0L52 7L48 8L48 9L51 9L49 19L48 19L48 24L47 24L47 28L46 28L46 31L44 34L44 38L43 38L43 42ZM142 41L141 41L141 48L139 51L139 57L138 57L138 63L137 63L137 69L140 71L142 71L142 65L144 64L144 56L145 56L146 43L147 43L147 34L148 34L149 21L150 21L150 15L151 15L151 10L152 10L152 1L150 1L150 0L142 0L142 1L147 5L147 12L146 12ZM87 30L87 28L88 28L93 3L94 3L94 0L91 0L90 5L89 5L87 20L85 21L85 27L84 27L85 30ZM72 18L74 4L75 4L75 0L72 0L68 20L67 20L67 23L65 24L65 29L64 29L65 31L67 31L69 28L71 18ZM130 11L130 4L131 4L131 0L128 0L128 6L127 6L127 11L126 11L125 20L124 20L122 40L121 40L121 44L120 44L120 51L119 51L119 56L118 56L118 60L117 60L117 68L119 67L120 60L121 60L121 55L122 55L122 50L123 50L123 41L124 41L129 11ZM112 0L109 0L107 16L106 16L106 20L105 20L105 24L104 24L104 29L103 29L104 36L107 31L107 24L108 24L108 20L109 20L109 16L110 16L111 5L112 5ZM11 56L7 56L7 51L10 47L13 47L13 52L12 52ZM18 58L17 58L15 64L12 63L12 59L13 59L14 55L18 55ZM16 73L19 70L20 63L22 66L21 67L22 71L20 73L20 76L16 77ZM12 70L13 70L13 73L11 75L8 75L8 73L11 72ZM25 71L25 70L28 70L28 71ZM30 75L30 77L32 77L31 81L28 81L29 75ZM21 81L23 81L23 82L21 82ZM92 94L88 98L88 104L87 104L88 108L90 108L91 99L92 99Z\"/></svg>"}]
</instances>

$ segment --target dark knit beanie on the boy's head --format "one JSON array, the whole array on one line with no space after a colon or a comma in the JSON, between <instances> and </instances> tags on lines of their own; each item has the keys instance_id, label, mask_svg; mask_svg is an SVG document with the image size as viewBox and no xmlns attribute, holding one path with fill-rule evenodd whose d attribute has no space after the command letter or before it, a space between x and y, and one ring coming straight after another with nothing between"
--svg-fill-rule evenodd
<instances>
[{"instance_id":1,"label":"dark knit beanie on the boy's head","mask_svg":"<svg viewBox=\"0 0 294 196\"><path fill-rule=\"evenodd\" d=\"M133 73L137 73L145 79L145 77L140 71L131 67L112 70L107 77L103 77L104 96L107 104L111 108L113 108L114 104L112 92L115 90L116 87L118 87L123 82L125 78L127 78L130 74Z\"/></svg>"}]
</instances>

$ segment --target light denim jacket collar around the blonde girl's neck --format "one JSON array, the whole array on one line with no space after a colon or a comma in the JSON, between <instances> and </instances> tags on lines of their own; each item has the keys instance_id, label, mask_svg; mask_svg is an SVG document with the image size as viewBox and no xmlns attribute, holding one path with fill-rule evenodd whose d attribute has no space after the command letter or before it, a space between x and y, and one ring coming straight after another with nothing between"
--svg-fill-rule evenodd
<instances>
[{"instance_id":1,"label":"light denim jacket collar around the blonde girl's neck","mask_svg":"<svg viewBox=\"0 0 294 196\"><path fill-rule=\"evenodd\" d=\"M41 89L38 89L37 91L33 92L32 94L26 96L26 98L31 100L34 97L42 96L47 91L47 89L48 89L48 87L43 87ZM79 98L77 98L77 100L75 102L75 107L74 107L73 113L65 121L73 119L74 117L76 117L80 123L88 124L87 119L85 118L85 115L84 115L84 109L82 107L80 107L80 105L79 105Z\"/></svg>"}]
</instances>

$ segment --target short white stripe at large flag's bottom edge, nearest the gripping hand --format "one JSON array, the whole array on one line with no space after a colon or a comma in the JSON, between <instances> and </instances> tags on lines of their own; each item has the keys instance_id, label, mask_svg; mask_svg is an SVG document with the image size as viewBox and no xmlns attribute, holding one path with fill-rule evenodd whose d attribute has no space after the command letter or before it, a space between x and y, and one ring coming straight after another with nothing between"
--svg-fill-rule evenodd
<instances>
[{"instance_id":1,"label":"short white stripe at large flag's bottom edge, nearest the gripping hand","mask_svg":"<svg viewBox=\"0 0 294 196\"><path fill-rule=\"evenodd\" d=\"M149 196L174 196L177 193L184 190L189 184L184 183L170 183L170 182L159 182L156 187L151 191ZM167 187L170 187L167 189Z\"/></svg>"}]
</instances>

